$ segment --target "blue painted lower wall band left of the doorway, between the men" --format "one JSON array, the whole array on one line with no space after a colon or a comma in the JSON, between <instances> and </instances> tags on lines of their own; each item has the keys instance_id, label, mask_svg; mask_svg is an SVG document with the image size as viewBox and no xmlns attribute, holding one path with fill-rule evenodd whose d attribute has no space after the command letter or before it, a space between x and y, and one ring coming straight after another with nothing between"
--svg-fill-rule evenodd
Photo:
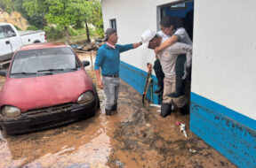
<instances>
[{"instance_id":1,"label":"blue painted lower wall band left of the doorway, between the men","mask_svg":"<svg viewBox=\"0 0 256 168\"><path fill-rule=\"evenodd\" d=\"M147 66L146 63L145 66ZM139 68L136 68L135 66L120 61L119 74L122 80L132 86L132 88L135 88L135 90L138 91L141 95L143 94L148 72L144 72ZM148 88L147 99L151 101L152 96L152 102L157 104L161 102L161 97L153 94L153 92L157 88L157 81L155 75L152 75L151 77L153 79L153 90L150 90L150 88Z\"/></svg>"}]
</instances>

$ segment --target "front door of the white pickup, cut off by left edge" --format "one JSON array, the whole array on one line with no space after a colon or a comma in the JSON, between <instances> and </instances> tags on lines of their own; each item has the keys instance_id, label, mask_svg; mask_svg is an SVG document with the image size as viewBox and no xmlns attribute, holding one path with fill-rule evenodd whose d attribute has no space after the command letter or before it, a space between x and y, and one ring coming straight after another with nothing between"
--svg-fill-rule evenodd
<instances>
[{"instance_id":1,"label":"front door of the white pickup, cut off by left edge","mask_svg":"<svg viewBox=\"0 0 256 168\"><path fill-rule=\"evenodd\" d=\"M12 57L12 48L10 39L4 35L2 26L0 27L0 61L4 61Z\"/></svg>"}]
</instances>

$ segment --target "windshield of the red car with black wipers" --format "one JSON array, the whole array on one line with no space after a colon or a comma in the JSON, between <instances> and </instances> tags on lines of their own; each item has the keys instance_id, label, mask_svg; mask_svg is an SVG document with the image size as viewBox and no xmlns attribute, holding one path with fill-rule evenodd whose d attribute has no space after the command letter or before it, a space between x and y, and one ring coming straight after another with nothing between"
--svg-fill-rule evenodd
<instances>
[{"instance_id":1,"label":"windshield of the red car with black wipers","mask_svg":"<svg viewBox=\"0 0 256 168\"><path fill-rule=\"evenodd\" d=\"M69 48L18 51L12 63L11 74L63 72L80 67Z\"/></svg>"}]
</instances>

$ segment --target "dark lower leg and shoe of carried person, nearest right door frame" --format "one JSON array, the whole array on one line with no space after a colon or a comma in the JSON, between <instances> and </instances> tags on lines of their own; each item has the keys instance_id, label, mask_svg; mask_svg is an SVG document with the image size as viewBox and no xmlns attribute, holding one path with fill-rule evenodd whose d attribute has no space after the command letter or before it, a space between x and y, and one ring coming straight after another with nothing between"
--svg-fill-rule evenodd
<instances>
[{"instance_id":1,"label":"dark lower leg and shoe of carried person, nearest right door frame","mask_svg":"<svg viewBox=\"0 0 256 168\"><path fill-rule=\"evenodd\" d=\"M176 76L176 88L175 91L171 94L168 94L168 97L177 98L180 95L184 95L184 90L186 86L186 80L182 80L181 76Z\"/></svg>"}]
</instances>

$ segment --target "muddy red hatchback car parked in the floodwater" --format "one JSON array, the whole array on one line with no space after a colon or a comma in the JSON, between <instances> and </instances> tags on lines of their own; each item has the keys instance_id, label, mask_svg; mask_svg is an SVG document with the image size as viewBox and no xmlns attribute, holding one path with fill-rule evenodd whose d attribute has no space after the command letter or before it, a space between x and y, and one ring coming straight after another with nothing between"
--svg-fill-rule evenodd
<instances>
[{"instance_id":1,"label":"muddy red hatchback car parked in the floodwater","mask_svg":"<svg viewBox=\"0 0 256 168\"><path fill-rule=\"evenodd\" d=\"M64 125L95 114L99 96L83 63L65 43L21 47L9 70L1 70L0 125L23 134Z\"/></svg>"}]
</instances>

